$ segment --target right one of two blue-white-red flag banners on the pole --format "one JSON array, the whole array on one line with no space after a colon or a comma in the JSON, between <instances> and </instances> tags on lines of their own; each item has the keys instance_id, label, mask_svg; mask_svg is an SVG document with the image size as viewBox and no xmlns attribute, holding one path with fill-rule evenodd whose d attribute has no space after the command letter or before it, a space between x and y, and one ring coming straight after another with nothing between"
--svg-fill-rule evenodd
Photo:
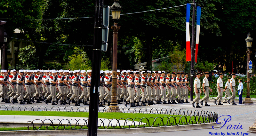
<instances>
[{"instance_id":1,"label":"right one of two blue-white-red flag banners on the pole","mask_svg":"<svg viewBox=\"0 0 256 136\"><path fill-rule=\"evenodd\" d=\"M197 62L197 50L198 50L199 34L200 34L201 9L202 9L202 7L196 6L196 54L195 54L195 62Z\"/></svg>"}]
</instances>

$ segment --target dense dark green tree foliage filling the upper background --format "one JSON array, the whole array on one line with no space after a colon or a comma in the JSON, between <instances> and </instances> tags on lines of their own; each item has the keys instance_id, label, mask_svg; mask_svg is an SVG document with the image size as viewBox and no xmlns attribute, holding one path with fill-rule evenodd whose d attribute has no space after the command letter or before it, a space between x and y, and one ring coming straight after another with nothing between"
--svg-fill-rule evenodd
<instances>
[{"instance_id":1,"label":"dense dark green tree foliage filling the upper background","mask_svg":"<svg viewBox=\"0 0 256 136\"><path fill-rule=\"evenodd\" d=\"M105 0L104 2L104 5L112 5L114 1ZM192 0L119 1L119 4L123 6L122 13L168 8L186 3L192 3ZM18 28L22 30L23 36L27 36L33 41L53 43L34 42L36 54L40 54L38 55L39 62L43 60L70 62L70 56L74 54L74 46L57 44L92 45L94 18L21 19L93 17L95 14L94 4L94 0L77 0L75 2L71 0L9 0L0 2L0 15L1 18L5 18L3 20L8 22L5 29L9 36L13 35L15 28ZM201 64L207 61L213 63L215 69L228 72L232 70L233 61L235 72L245 73L246 69L242 68L246 65L244 39L248 32L252 34L253 38L256 28L254 16L256 4L250 0L199 0L196 1L196 5L202 7L198 48ZM190 17L192 17L192 8ZM190 31L191 21L192 19L190 19ZM113 25L113 22L110 20L110 25ZM186 48L186 6L121 15L118 25L121 26L118 33L118 46L130 47L118 48L118 68L120 69L133 69L133 65L140 62L147 62L147 68L151 69L152 59L172 54L173 46L179 45L183 49ZM111 32L112 30L109 32L108 52L102 54L103 57L110 60L108 68L112 65L113 37ZM180 51L183 52L183 49ZM92 60L92 46L84 46L82 50L88 59ZM255 52L255 47L252 47L251 50ZM181 54L181 58L184 55L186 54ZM78 56L78 60L81 60L81 57ZM204 68L199 68L202 66L200 61L198 61L198 70L204 71ZM252 61L255 61L254 57L252 57ZM83 62L87 61L83 60ZM215 65L216 63L217 65ZM184 65L189 67L189 63ZM43 68L43 66L43 63L38 63L35 67ZM89 68L89 66L87 67ZM188 71L187 67L185 67L185 71Z\"/></svg>"}]
</instances>

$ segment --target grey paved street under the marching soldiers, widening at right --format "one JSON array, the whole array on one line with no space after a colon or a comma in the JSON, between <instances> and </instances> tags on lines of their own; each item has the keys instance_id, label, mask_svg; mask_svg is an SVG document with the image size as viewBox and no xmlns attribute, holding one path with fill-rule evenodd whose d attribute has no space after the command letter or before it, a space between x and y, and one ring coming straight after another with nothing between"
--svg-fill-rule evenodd
<instances>
[{"instance_id":1,"label":"grey paved street under the marching soldiers, widening at right","mask_svg":"<svg viewBox=\"0 0 256 136\"><path fill-rule=\"evenodd\" d=\"M238 103L238 101L236 100L236 103ZM193 108L190 104L161 104L161 105L153 105L153 106L144 106L144 107L140 107L143 108L144 111L148 111L145 109L151 109L154 108L154 111L160 112L160 109L190 109L190 110L204 110L204 111L214 111L214 112L218 112L219 114L219 121L222 122L222 124L225 124L224 118L228 119L229 122L227 122L222 128L218 129L218 130L214 130L214 129L201 129L201 130L191 130L191 131L176 131L176 132L160 132L157 133L157 135L161 135L161 136L169 136L171 135L179 135L179 136L206 136L206 135L223 135L225 133L225 135L230 134L230 132L232 132L233 134L235 133L235 135L243 135L243 133L246 135L248 135L247 131L249 130L249 126L251 126L256 119L256 101L254 101L255 104L253 105L232 105L232 104L228 104L228 103L223 103L223 106L219 106L219 105L215 105L213 103L213 100L209 101L208 104L210 104L210 107L204 107L202 106L202 108ZM1 110L6 110L8 108L8 110L47 110L50 111L52 110L58 110L58 111L79 111L79 110L84 110L84 111L89 111L89 106L80 106L80 107L75 107L74 104L69 105L60 105L58 104L57 106L52 106L52 105L46 105L45 103L41 103L41 104L26 104L26 105L20 105L20 104L5 104L4 102L0 102L0 108ZM200 104L199 104L200 105ZM21 106L21 107L20 107ZM127 108L124 106L124 104L119 105L119 107L121 109L123 109L125 112L135 112L134 109L130 109L130 104L127 105ZM5 109L4 109L5 108ZM137 109L137 110L136 110ZM104 108L100 107L100 112L104 111ZM107 108L105 108L105 110L107 110ZM135 108L136 112L138 112L139 108ZM168 110L167 110L168 111ZM149 111L148 111L149 112ZM114 117L113 117L114 118ZM231 120L230 120L231 118ZM239 127L242 125L242 129L239 127L237 129L230 129L230 125L234 126L236 125L236 127L239 125ZM227 128L228 127L228 128ZM235 127L235 128L236 128ZM232 128L232 127L231 127ZM222 133L221 133L222 132ZM115 136L155 136L156 133L140 133L140 134L116 134ZM256 135L256 134L252 134L249 133L249 135ZM108 135L104 135L104 136L108 136ZM111 135L113 136L113 135Z\"/></svg>"}]
</instances>

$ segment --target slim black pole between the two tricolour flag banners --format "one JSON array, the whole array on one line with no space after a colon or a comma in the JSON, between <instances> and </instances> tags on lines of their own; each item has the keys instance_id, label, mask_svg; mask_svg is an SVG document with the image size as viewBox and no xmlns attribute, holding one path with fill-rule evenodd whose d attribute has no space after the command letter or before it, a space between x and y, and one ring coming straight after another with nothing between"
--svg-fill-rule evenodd
<instances>
[{"instance_id":1,"label":"slim black pole between the two tricolour flag banners","mask_svg":"<svg viewBox=\"0 0 256 136\"><path fill-rule=\"evenodd\" d=\"M195 61L195 11L196 11L196 3L195 0L193 0L193 17L192 17L192 38L191 38L191 78L190 78L190 101L193 101L193 92L194 92L194 61Z\"/></svg>"}]
</instances>

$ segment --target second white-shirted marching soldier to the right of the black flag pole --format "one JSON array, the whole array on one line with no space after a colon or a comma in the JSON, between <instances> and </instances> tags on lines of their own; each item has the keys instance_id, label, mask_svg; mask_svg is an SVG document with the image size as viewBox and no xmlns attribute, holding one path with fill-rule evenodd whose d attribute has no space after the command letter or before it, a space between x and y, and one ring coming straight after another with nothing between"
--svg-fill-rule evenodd
<instances>
[{"instance_id":1,"label":"second white-shirted marching soldier to the right of the black flag pole","mask_svg":"<svg viewBox=\"0 0 256 136\"><path fill-rule=\"evenodd\" d=\"M208 81L209 72L205 72L204 75L205 75L205 77L203 79L203 90L204 90L205 96L200 101L200 103L201 103L201 105L203 105L203 101L205 101L204 106L210 106L207 104L208 99L209 99L209 90L212 92L212 89L209 87L209 81Z\"/></svg>"}]
</instances>

